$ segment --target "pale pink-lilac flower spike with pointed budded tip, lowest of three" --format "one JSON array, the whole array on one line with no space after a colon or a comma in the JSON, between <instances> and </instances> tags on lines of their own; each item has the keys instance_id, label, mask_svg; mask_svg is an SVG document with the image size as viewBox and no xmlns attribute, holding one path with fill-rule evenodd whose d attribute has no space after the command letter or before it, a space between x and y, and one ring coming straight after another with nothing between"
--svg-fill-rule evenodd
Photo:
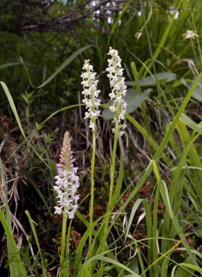
<instances>
[{"instance_id":1,"label":"pale pink-lilac flower spike with pointed budded tip, lowest of three","mask_svg":"<svg viewBox=\"0 0 202 277\"><path fill-rule=\"evenodd\" d=\"M77 168L73 166L72 151L70 144L70 137L68 132L64 134L64 141L62 146L62 152L59 155L60 163L56 164L58 175L55 176L56 186L53 186L57 193L57 204L55 206L55 213L61 215L62 211L68 214L68 218L74 217L77 210L77 202L79 195L77 195L77 188L80 186L79 177L77 177Z\"/></svg>"}]
</instances>

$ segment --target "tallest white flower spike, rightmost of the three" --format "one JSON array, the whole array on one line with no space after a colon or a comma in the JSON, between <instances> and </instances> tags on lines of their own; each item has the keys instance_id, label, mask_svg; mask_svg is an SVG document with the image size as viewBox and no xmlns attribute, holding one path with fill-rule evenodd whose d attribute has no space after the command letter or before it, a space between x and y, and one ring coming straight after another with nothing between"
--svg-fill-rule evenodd
<instances>
[{"instance_id":1,"label":"tallest white flower spike, rightmost of the three","mask_svg":"<svg viewBox=\"0 0 202 277\"><path fill-rule=\"evenodd\" d=\"M109 97L113 100L113 105L109 109L115 113L112 121L115 127L112 128L112 132L118 132L118 136L122 136L124 134L123 129L126 127L125 113L127 102L125 102L124 96L126 95L127 86L125 85L125 78L122 77L124 69L121 67L121 59L118 51L110 47L108 55L111 55L111 60L108 60L109 67L106 70L109 72L107 77L112 88Z\"/></svg>"}]
</instances>

